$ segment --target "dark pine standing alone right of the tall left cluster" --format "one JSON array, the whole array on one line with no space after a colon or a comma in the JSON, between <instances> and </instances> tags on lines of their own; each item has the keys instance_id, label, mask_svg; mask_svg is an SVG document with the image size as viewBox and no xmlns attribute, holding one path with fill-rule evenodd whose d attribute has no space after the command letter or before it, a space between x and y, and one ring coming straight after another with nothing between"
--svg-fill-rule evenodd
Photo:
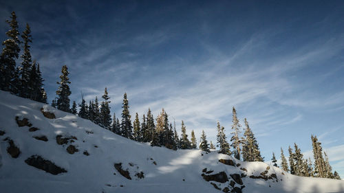
<instances>
[{"instance_id":1,"label":"dark pine standing alone right of the tall left cluster","mask_svg":"<svg viewBox=\"0 0 344 193\"><path fill-rule=\"evenodd\" d=\"M58 87L56 91L56 95L58 95L57 109L61 111L65 111L65 112L70 112L69 95L72 92L69 90L69 86L68 86L68 84L70 84L69 78L68 78L69 71L66 65L62 67L61 72L62 72L62 75L60 76L61 81L57 82L57 84L60 84L60 86Z\"/></svg>"}]
</instances>

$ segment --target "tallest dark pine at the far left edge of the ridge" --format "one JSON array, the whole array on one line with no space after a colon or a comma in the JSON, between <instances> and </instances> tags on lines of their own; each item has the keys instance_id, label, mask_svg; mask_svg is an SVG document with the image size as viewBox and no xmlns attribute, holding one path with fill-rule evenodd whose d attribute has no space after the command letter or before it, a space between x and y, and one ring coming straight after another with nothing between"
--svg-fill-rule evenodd
<instances>
[{"instance_id":1,"label":"tallest dark pine at the far left edge of the ridge","mask_svg":"<svg viewBox=\"0 0 344 193\"><path fill-rule=\"evenodd\" d=\"M19 75L16 69L16 59L19 57L21 41L18 38L17 16L15 12L12 12L11 15L11 21L6 20L6 23L10 25L10 30L6 32L9 38L3 41L2 45L5 47L0 56L0 88L3 91L17 93L20 85L17 82Z\"/></svg>"}]
</instances>

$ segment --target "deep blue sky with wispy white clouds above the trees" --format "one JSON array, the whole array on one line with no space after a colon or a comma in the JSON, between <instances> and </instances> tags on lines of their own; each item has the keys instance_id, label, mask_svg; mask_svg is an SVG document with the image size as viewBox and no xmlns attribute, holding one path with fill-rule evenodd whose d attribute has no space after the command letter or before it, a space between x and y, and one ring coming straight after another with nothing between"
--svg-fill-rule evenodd
<instances>
[{"instance_id":1,"label":"deep blue sky with wispy white clouds above the trees","mask_svg":"<svg viewBox=\"0 0 344 193\"><path fill-rule=\"evenodd\" d=\"M344 178L343 1L1 1L1 41L12 11L49 102L67 65L72 101L107 87L119 117L126 92L132 117L164 108L213 143L235 106L266 162L294 143L312 157L316 135Z\"/></svg>"}]
</instances>

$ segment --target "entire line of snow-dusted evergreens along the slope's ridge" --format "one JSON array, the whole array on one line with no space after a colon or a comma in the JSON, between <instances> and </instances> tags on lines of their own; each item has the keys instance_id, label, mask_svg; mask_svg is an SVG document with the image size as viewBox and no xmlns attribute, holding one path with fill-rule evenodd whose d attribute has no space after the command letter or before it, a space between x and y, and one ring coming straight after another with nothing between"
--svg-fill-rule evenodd
<instances>
[{"instance_id":1,"label":"entire line of snow-dusted evergreens along the slope's ridge","mask_svg":"<svg viewBox=\"0 0 344 193\"><path fill-rule=\"evenodd\" d=\"M14 12L11 13L11 20L6 20L9 24L10 30L6 32L8 39L3 41L4 46L0 55L0 89L9 91L14 95L22 98L29 98L38 102L47 103L47 93L43 88L43 78L40 71L39 63L35 60L32 61L30 54L30 43L32 43L31 29L28 23L25 30L19 39L19 25L17 23L17 16ZM21 47L23 48L22 54ZM21 63L17 65L17 60L21 58ZM202 130L199 145L197 146L197 139L195 133L191 131L191 139L186 132L184 121L181 123L181 135L178 135L175 122L169 122L169 115L162 109L160 114L154 118L151 109L148 109L147 114L143 114L141 121L136 113L135 119L131 122L131 115L129 113L129 100L127 93L123 95L121 120L116 117L114 113L111 117L109 103L110 97L105 88L104 94L101 98L103 101L98 101L96 97L90 100L87 104L82 97L80 104L72 102L70 106L69 95L69 71L67 65L63 65L61 69L60 82L57 82L58 89L56 90L56 98L52 100L52 106L58 110L73 113L84 119L90 120L99 126L111 130L117 135L127 137L135 141L143 143L150 143L151 146L165 146L166 148L177 149L195 149L200 148L205 152L210 152L211 149L215 150L215 145L212 141L210 144L206 139L206 133ZM255 135L244 118L244 134L241 135L243 129L237 117L237 111L233 106L232 109L232 125L230 132L230 141L226 137L226 130L217 122L217 144L218 152L242 159L243 161L264 161L261 157L259 144ZM331 179L340 179L338 173L332 173L327 154L321 148L321 143L316 136L311 137L314 164L312 160L304 159L301 150L294 144L294 151L288 148L289 164L284 156L283 149L281 148L281 168L291 174L303 177L323 177ZM277 159L275 153L272 152L272 163L277 166ZM278 167L278 166L277 166Z\"/></svg>"}]
</instances>

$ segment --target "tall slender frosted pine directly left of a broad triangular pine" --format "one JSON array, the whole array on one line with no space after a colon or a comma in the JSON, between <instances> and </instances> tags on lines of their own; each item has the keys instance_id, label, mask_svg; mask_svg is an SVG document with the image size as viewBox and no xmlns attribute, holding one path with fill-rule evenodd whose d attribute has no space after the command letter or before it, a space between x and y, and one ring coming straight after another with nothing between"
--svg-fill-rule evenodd
<instances>
[{"instance_id":1,"label":"tall slender frosted pine directly left of a broad triangular pine","mask_svg":"<svg viewBox=\"0 0 344 193\"><path fill-rule=\"evenodd\" d=\"M233 119L232 119L233 125L232 125L232 130L233 132L230 133L232 134L232 138L230 139L230 141L232 141L232 144L230 144L230 146L232 146L234 148L234 157L236 159L240 159L240 144L241 144L241 140L239 138L240 135L240 127L241 125L239 124L239 120L237 119L237 111L235 110L234 106L233 106Z\"/></svg>"}]
</instances>

